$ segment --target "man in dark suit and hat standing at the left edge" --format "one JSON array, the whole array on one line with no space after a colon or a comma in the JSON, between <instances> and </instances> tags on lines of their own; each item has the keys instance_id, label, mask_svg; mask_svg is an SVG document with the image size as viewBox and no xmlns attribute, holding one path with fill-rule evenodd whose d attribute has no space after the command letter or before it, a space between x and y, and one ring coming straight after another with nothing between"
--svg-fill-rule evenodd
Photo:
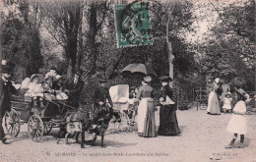
<instances>
[{"instance_id":1,"label":"man in dark suit and hat standing at the left edge","mask_svg":"<svg viewBox=\"0 0 256 162\"><path fill-rule=\"evenodd\" d=\"M7 144L6 137L3 129L3 118L6 111L11 111L11 95L17 94L18 90L13 86L10 81L11 78L11 68L7 65L2 65L2 94L0 96L0 139L3 144Z\"/></svg>"}]
</instances>

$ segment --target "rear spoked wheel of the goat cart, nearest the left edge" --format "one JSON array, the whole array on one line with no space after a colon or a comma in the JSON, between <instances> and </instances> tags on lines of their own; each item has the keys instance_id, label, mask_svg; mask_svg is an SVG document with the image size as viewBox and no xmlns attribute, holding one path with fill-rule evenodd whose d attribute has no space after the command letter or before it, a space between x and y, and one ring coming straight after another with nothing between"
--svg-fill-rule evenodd
<instances>
[{"instance_id":1,"label":"rear spoked wheel of the goat cart, nearest the left edge","mask_svg":"<svg viewBox=\"0 0 256 162\"><path fill-rule=\"evenodd\" d=\"M8 134L16 137L21 130L20 117L15 110L5 113L5 129Z\"/></svg>"}]
</instances>

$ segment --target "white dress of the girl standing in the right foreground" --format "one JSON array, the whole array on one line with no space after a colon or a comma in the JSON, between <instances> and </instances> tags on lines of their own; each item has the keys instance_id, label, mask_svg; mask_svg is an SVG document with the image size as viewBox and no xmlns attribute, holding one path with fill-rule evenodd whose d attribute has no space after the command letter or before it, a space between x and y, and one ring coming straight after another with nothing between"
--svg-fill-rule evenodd
<instances>
[{"instance_id":1,"label":"white dress of the girl standing in the right foreground","mask_svg":"<svg viewBox=\"0 0 256 162\"><path fill-rule=\"evenodd\" d=\"M238 101L235 104L233 111L238 112L242 115L232 114L226 130L233 134L239 134L239 135L247 134L247 119L245 118L245 113L246 113L245 102Z\"/></svg>"}]
</instances>

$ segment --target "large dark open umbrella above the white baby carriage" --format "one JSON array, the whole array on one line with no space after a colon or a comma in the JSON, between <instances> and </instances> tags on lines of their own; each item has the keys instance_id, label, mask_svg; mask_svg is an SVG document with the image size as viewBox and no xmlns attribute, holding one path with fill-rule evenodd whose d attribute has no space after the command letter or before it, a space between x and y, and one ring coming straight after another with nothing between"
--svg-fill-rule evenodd
<instances>
[{"instance_id":1,"label":"large dark open umbrella above the white baby carriage","mask_svg":"<svg viewBox=\"0 0 256 162\"><path fill-rule=\"evenodd\" d=\"M129 64L121 72L142 73L144 75L152 75L157 77L152 67L145 64Z\"/></svg>"}]
</instances>

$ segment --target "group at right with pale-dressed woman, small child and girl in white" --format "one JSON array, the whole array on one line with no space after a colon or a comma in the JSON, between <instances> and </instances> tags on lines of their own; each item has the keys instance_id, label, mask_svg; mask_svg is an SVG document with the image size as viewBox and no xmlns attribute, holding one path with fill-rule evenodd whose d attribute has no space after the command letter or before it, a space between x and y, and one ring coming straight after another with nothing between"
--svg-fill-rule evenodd
<instances>
[{"instance_id":1,"label":"group at right with pale-dressed woman, small child and girl in white","mask_svg":"<svg viewBox=\"0 0 256 162\"><path fill-rule=\"evenodd\" d=\"M221 98L218 91L222 90ZM233 137L225 148L233 148L237 135L240 135L238 148L244 147L244 135L247 134L246 101L249 95L240 87L233 83L221 82L218 78L214 81L212 91L209 94L207 114L221 115L221 111L232 113L226 131L233 134Z\"/></svg>"}]
</instances>

